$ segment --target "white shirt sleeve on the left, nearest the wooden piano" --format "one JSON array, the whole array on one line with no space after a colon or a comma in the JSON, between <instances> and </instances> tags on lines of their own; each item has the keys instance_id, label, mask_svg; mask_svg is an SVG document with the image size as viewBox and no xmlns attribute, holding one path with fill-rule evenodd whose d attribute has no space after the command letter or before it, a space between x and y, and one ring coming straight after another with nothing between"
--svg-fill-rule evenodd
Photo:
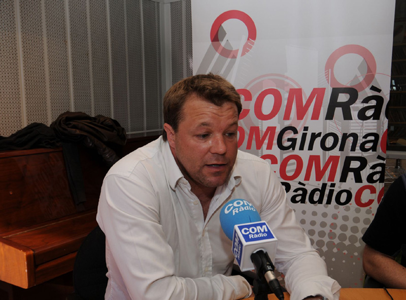
<instances>
[{"instance_id":1,"label":"white shirt sleeve on the left, nearest the wooden piano","mask_svg":"<svg viewBox=\"0 0 406 300\"><path fill-rule=\"evenodd\" d=\"M159 204L147 175L108 175L101 188L97 221L109 254L131 299L240 299L251 287L241 276L175 276L174 253L159 222ZM198 262L196 261L196 264ZM109 265L109 264L108 264ZM109 270L109 276L115 276Z\"/></svg>"}]
</instances>

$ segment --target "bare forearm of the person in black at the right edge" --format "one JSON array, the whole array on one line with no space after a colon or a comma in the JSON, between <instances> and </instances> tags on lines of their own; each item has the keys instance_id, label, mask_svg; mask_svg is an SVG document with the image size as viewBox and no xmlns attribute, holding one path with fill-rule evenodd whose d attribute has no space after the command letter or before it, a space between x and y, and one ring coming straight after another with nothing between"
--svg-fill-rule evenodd
<instances>
[{"instance_id":1,"label":"bare forearm of the person in black at the right edge","mask_svg":"<svg viewBox=\"0 0 406 300\"><path fill-rule=\"evenodd\" d=\"M406 268L391 256L365 245L362 266L367 275L389 288L406 288Z\"/></svg>"}]
</instances>

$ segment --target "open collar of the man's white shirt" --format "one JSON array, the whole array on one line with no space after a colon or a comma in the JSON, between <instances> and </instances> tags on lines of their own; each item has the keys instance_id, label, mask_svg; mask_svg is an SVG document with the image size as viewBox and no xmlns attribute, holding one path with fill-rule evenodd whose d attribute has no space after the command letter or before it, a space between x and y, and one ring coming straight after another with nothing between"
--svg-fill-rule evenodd
<instances>
[{"instance_id":1,"label":"open collar of the man's white shirt","mask_svg":"<svg viewBox=\"0 0 406 300\"><path fill-rule=\"evenodd\" d=\"M166 170L168 174L168 180L169 184L171 185L171 188L175 190L176 184L178 181L182 178L184 178L181 170L178 167L178 164L175 161L175 158L171 152L171 147L169 146L169 143L167 141L162 140L162 155L165 161L166 165ZM240 184L241 182L241 174L238 171L238 168L236 168L236 163L234 165L234 168L231 171L231 176L228 182L225 184L229 190L232 190L235 185Z\"/></svg>"}]
</instances>

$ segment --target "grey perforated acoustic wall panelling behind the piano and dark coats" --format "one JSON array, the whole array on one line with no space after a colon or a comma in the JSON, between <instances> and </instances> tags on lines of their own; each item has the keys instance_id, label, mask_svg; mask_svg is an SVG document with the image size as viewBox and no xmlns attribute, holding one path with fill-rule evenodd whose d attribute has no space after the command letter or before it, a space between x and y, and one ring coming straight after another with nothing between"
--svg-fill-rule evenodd
<instances>
[{"instance_id":1,"label":"grey perforated acoustic wall panelling behind the piano and dark coats","mask_svg":"<svg viewBox=\"0 0 406 300\"><path fill-rule=\"evenodd\" d=\"M128 133L159 133L161 2L0 1L0 136L50 125L68 110L112 117ZM176 82L192 73L190 0L170 6Z\"/></svg>"}]
</instances>

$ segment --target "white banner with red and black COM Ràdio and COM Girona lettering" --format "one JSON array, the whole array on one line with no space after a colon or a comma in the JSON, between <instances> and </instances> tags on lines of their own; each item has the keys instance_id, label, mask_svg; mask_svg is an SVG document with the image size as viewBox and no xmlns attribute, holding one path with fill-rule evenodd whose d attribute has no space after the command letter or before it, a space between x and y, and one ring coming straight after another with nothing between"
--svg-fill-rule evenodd
<instances>
[{"instance_id":1,"label":"white banner with red and black COM R\u00e0dio and COM Girona lettering","mask_svg":"<svg viewBox=\"0 0 406 300\"><path fill-rule=\"evenodd\" d=\"M239 147L267 160L343 287L383 196L395 1L192 0L193 72L243 96Z\"/></svg>"}]
</instances>

